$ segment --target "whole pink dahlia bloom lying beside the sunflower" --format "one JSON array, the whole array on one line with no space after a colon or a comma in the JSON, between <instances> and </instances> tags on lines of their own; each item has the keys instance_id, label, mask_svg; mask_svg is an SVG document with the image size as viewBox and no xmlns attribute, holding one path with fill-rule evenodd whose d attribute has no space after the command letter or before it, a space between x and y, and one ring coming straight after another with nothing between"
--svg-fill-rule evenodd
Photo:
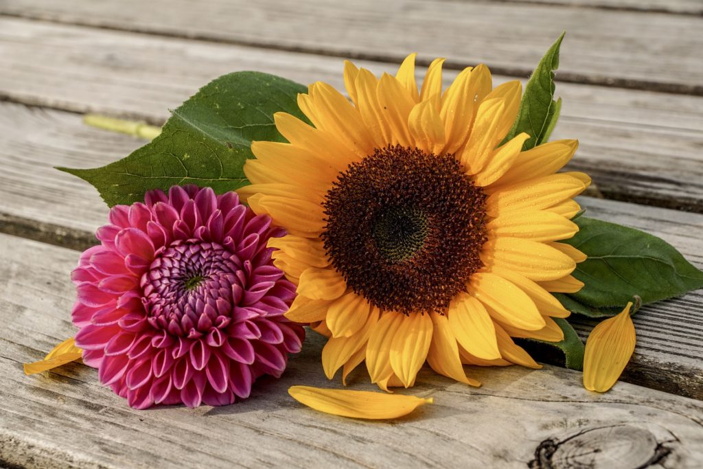
<instances>
[{"instance_id":1,"label":"whole pink dahlia bloom lying beside the sunflower","mask_svg":"<svg viewBox=\"0 0 703 469\"><path fill-rule=\"evenodd\" d=\"M211 188L112 207L72 274L84 362L136 409L231 404L260 375L278 378L304 338L283 316L295 285L266 247L284 234Z\"/></svg>"}]
</instances>

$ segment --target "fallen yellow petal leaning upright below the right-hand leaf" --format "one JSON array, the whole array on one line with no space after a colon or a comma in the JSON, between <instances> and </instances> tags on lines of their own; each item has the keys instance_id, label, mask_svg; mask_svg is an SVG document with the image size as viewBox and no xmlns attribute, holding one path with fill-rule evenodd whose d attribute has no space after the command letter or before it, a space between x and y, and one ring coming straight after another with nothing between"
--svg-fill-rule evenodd
<instances>
[{"instance_id":1,"label":"fallen yellow petal leaning upright below the right-hand leaf","mask_svg":"<svg viewBox=\"0 0 703 469\"><path fill-rule=\"evenodd\" d=\"M620 314L598 323L586 341L583 387L606 392L617 382L635 350L635 326L629 302Z\"/></svg>"}]
</instances>

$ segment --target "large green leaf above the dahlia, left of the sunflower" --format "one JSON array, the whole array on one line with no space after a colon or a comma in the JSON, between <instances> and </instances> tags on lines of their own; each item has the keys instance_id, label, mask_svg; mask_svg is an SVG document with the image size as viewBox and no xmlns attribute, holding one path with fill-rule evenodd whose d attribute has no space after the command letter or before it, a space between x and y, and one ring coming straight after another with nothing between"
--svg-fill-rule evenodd
<instances>
[{"instance_id":1,"label":"large green leaf above the dahlia, left of the sunflower","mask_svg":"<svg viewBox=\"0 0 703 469\"><path fill-rule=\"evenodd\" d=\"M95 169L58 169L93 184L110 207L179 184L232 191L249 184L243 166L254 156L252 141L285 141L273 114L284 111L304 119L297 94L306 91L265 73L224 75L174 110L160 136L127 158Z\"/></svg>"}]
</instances>

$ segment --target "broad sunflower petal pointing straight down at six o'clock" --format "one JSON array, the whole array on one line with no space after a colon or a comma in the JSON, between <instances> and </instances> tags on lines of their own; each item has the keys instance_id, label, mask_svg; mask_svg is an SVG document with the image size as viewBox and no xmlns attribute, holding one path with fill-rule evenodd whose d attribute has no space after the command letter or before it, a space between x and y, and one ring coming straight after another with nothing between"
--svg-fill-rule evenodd
<instances>
[{"instance_id":1,"label":"broad sunflower petal pointing straight down at six o'clock","mask_svg":"<svg viewBox=\"0 0 703 469\"><path fill-rule=\"evenodd\" d=\"M391 342L389 357L391 368L405 387L415 382L431 341L432 319L429 314L413 313L403 318Z\"/></svg>"}]
</instances>

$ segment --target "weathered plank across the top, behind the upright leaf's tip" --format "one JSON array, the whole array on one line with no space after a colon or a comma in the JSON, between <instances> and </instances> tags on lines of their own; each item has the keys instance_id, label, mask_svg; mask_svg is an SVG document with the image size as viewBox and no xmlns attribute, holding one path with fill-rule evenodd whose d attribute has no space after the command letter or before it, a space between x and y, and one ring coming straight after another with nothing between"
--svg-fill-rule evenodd
<instances>
[{"instance_id":1,"label":"weathered plank across the top, behind the upright leaf's tip","mask_svg":"<svg viewBox=\"0 0 703 469\"><path fill-rule=\"evenodd\" d=\"M448 67L484 62L518 76L567 30L562 81L703 94L698 16L423 0L211 0L206 7L185 0L6 0L1 7L26 18L333 56L397 61L417 51L425 63L446 56Z\"/></svg>"}]
</instances>

